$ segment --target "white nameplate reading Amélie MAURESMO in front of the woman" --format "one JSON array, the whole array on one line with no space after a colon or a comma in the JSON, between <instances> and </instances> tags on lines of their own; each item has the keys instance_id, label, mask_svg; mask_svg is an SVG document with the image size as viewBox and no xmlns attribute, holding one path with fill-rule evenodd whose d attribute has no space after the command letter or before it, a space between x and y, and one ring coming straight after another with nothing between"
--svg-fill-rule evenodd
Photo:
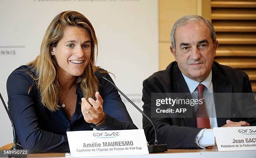
<instances>
[{"instance_id":1,"label":"white nameplate reading Am\u00e9lie MAURESMO in front of the woman","mask_svg":"<svg viewBox=\"0 0 256 158\"><path fill-rule=\"evenodd\" d=\"M143 129L67 132L71 156L148 154Z\"/></svg>"}]
</instances>

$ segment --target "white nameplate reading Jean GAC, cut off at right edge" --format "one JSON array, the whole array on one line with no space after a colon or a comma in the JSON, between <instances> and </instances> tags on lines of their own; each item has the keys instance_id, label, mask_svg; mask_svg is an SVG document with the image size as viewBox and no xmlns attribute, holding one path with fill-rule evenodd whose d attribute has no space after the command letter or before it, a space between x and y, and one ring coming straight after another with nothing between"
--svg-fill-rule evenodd
<instances>
[{"instance_id":1,"label":"white nameplate reading Jean GAC, cut off at right edge","mask_svg":"<svg viewBox=\"0 0 256 158\"><path fill-rule=\"evenodd\" d=\"M218 151L256 150L256 126L213 128Z\"/></svg>"}]
</instances>

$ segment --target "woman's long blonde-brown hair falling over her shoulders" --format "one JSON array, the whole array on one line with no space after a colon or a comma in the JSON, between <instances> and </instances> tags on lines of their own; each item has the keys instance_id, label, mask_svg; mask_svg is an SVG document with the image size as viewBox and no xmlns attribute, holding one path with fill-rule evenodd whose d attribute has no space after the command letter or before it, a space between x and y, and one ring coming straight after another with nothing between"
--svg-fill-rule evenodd
<instances>
[{"instance_id":1,"label":"woman's long blonde-brown hair falling over her shoulders","mask_svg":"<svg viewBox=\"0 0 256 158\"><path fill-rule=\"evenodd\" d=\"M51 111L59 109L60 85L58 78L58 64L55 56L51 56L51 47L56 47L63 36L65 27L82 27L86 29L91 36L91 55L84 73L77 77L75 84L81 87L82 93L86 99L95 98L95 92L98 91L98 80L94 72L95 52L97 56L97 38L90 21L81 13L75 11L65 11L57 15L48 26L41 43L40 54L28 65L33 67L36 72L33 79L36 80L37 88L41 94L41 102ZM31 88L33 85L31 86ZM31 90L31 89L30 89Z\"/></svg>"}]
</instances>

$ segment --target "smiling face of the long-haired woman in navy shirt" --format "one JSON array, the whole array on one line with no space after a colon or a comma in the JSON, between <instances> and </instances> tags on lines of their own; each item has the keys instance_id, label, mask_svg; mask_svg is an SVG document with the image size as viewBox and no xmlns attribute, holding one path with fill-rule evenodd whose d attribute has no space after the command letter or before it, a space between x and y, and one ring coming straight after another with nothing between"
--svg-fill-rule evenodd
<instances>
[{"instance_id":1,"label":"smiling face of the long-haired woman in navy shirt","mask_svg":"<svg viewBox=\"0 0 256 158\"><path fill-rule=\"evenodd\" d=\"M56 57L60 77L81 76L91 56L90 34L82 27L66 27L51 55Z\"/></svg>"}]
</instances>

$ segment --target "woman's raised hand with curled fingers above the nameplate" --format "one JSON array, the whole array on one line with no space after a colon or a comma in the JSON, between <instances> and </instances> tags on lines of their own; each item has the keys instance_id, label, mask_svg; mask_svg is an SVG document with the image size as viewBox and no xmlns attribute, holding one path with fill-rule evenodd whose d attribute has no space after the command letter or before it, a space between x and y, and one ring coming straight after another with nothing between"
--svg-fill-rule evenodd
<instances>
[{"instance_id":1,"label":"woman's raised hand with curled fingers above the nameplate","mask_svg":"<svg viewBox=\"0 0 256 158\"><path fill-rule=\"evenodd\" d=\"M103 112L103 99L98 91L95 93L95 97L96 101L88 98L90 103L85 98L82 98L81 110L86 122L101 126L106 121L105 113Z\"/></svg>"}]
</instances>

